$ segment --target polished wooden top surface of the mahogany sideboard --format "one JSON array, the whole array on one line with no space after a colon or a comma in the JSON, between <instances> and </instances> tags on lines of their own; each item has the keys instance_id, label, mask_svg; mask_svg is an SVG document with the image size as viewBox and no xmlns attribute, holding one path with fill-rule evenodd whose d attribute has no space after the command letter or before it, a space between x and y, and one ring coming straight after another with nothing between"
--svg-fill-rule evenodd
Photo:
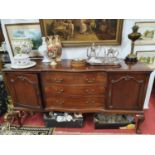
<instances>
[{"instance_id":1,"label":"polished wooden top surface of the mahogany sideboard","mask_svg":"<svg viewBox=\"0 0 155 155\"><path fill-rule=\"evenodd\" d=\"M108 71L108 72L121 72L121 71L141 71L151 72L153 69L149 68L146 64L138 62L134 65L127 65L125 62L121 63L121 67L110 67L100 65L89 65L84 67L72 67L71 60L62 60L56 66L51 66L50 63L43 63L41 60L35 60L37 65L27 69L12 69L4 68L4 72L8 71L26 71L26 72L42 72L42 71L65 71L65 72L86 72L86 71Z\"/></svg>"}]
</instances>

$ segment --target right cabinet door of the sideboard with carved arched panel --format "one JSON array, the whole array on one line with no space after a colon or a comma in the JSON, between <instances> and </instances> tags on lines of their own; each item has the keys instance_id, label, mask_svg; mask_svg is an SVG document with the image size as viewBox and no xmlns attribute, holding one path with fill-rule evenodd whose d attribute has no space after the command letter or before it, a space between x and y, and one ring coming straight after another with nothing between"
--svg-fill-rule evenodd
<instances>
[{"instance_id":1,"label":"right cabinet door of the sideboard with carved arched panel","mask_svg":"<svg viewBox=\"0 0 155 155\"><path fill-rule=\"evenodd\" d=\"M142 110L148 84L147 74L111 73L107 94L107 108Z\"/></svg>"}]
</instances>

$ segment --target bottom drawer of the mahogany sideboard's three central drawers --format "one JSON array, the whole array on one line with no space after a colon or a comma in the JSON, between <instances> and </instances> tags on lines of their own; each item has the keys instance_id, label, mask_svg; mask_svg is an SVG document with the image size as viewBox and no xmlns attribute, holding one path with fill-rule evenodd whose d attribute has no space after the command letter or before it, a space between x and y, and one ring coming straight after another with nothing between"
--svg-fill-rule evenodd
<instances>
[{"instance_id":1,"label":"bottom drawer of the mahogany sideboard's three central drawers","mask_svg":"<svg viewBox=\"0 0 155 155\"><path fill-rule=\"evenodd\" d=\"M48 97L45 108L99 108L104 107L105 97Z\"/></svg>"}]
</instances>

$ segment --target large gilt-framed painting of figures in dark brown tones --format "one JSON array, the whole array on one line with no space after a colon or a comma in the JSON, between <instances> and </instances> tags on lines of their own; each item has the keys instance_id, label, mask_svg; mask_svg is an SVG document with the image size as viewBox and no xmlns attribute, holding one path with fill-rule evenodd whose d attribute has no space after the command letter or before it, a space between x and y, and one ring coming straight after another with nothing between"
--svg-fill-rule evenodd
<instances>
[{"instance_id":1,"label":"large gilt-framed painting of figures in dark brown tones","mask_svg":"<svg viewBox=\"0 0 155 155\"><path fill-rule=\"evenodd\" d=\"M44 36L59 35L63 46L121 44L121 19L40 19Z\"/></svg>"}]
</instances>

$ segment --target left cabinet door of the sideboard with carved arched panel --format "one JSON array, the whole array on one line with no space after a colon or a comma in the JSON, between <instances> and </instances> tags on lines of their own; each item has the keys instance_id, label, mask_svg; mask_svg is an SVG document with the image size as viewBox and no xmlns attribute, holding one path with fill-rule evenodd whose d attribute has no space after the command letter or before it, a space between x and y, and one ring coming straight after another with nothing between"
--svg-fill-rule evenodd
<instances>
[{"instance_id":1,"label":"left cabinet door of the sideboard with carved arched panel","mask_svg":"<svg viewBox=\"0 0 155 155\"><path fill-rule=\"evenodd\" d=\"M6 73L5 75L15 107L31 109L42 107L36 74Z\"/></svg>"}]
</instances>

